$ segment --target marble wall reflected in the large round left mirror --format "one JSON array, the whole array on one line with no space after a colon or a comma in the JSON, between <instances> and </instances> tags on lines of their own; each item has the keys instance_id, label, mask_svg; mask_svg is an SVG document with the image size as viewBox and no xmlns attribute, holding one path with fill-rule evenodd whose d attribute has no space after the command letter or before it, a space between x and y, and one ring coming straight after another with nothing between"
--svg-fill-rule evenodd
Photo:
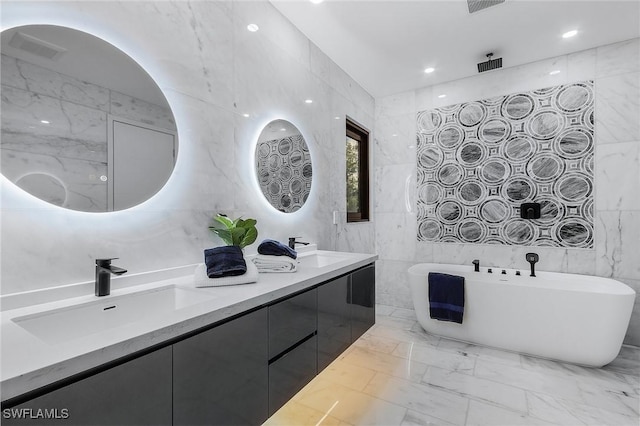
<instances>
[{"instance_id":1,"label":"marble wall reflected in the large round left mirror","mask_svg":"<svg viewBox=\"0 0 640 426\"><path fill-rule=\"evenodd\" d=\"M2 55L2 173L74 210L107 209L108 116L174 130L165 106ZM47 84L43 84L46 82ZM49 124L34 122L47 117Z\"/></svg>"}]
</instances>

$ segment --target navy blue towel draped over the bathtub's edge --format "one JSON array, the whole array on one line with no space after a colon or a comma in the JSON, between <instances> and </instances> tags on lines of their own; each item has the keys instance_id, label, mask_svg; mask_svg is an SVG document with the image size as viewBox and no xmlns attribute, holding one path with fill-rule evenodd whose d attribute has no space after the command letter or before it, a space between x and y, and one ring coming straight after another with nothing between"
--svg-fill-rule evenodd
<instances>
[{"instance_id":1,"label":"navy blue towel draped over the bathtub's edge","mask_svg":"<svg viewBox=\"0 0 640 426\"><path fill-rule=\"evenodd\" d=\"M464 277L429 272L429 315L440 321L462 324Z\"/></svg>"}]
</instances>

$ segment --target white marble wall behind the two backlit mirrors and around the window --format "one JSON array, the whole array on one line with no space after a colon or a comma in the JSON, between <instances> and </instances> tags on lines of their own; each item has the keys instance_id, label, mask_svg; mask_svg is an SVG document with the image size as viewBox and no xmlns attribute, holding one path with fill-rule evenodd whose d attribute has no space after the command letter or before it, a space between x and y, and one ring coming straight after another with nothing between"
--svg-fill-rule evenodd
<instances>
[{"instance_id":1,"label":"white marble wall behind the two backlit mirrors and around the window","mask_svg":"<svg viewBox=\"0 0 640 426\"><path fill-rule=\"evenodd\" d=\"M0 19L70 26L120 48L163 90L180 138L167 185L121 212L60 209L1 178L3 294L91 281L99 257L119 257L130 274L202 262L222 243L208 231L217 212L256 218L258 242L373 251L373 226L334 225L333 211L346 215L345 117L373 129L374 100L267 0L3 1ZM309 199L291 214L266 202L253 171L257 138L278 118L296 123L312 153Z\"/></svg>"}]
</instances>

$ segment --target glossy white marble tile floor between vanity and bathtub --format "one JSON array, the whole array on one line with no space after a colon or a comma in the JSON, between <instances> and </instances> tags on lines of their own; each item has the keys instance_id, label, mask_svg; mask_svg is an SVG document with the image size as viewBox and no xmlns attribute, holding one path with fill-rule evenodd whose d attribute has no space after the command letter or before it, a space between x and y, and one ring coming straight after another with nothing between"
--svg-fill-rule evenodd
<instances>
[{"instance_id":1,"label":"glossy white marble tile floor between vanity and bathtub","mask_svg":"<svg viewBox=\"0 0 640 426\"><path fill-rule=\"evenodd\" d=\"M428 335L407 309L376 325L265 425L634 425L640 348L601 369Z\"/></svg>"}]
</instances>

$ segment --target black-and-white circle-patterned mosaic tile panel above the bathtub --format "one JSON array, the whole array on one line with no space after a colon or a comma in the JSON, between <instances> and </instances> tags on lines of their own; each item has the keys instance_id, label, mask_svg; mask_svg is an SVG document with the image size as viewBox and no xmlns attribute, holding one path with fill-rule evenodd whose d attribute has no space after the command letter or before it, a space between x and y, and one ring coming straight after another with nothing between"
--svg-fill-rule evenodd
<instances>
[{"instance_id":1,"label":"black-and-white circle-patterned mosaic tile panel above the bathtub","mask_svg":"<svg viewBox=\"0 0 640 426\"><path fill-rule=\"evenodd\" d=\"M418 241L593 248L594 122L593 81L419 112Z\"/></svg>"}]
</instances>

